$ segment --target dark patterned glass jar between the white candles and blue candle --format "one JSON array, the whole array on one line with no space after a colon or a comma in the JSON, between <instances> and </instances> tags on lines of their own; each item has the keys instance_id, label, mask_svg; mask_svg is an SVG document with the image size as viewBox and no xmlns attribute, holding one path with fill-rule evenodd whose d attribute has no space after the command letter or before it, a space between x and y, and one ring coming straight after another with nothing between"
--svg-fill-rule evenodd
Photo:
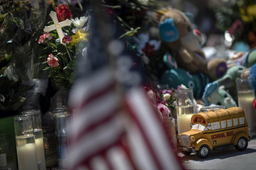
<instances>
[{"instance_id":1,"label":"dark patterned glass jar between the white candles and blue candle","mask_svg":"<svg viewBox=\"0 0 256 170\"><path fill-rule=\"evenodd\" d=\"M43 127L43 146L45 150L46 167L58 165L58 154L54 127Z\"/></svg>"}]
</instances>

